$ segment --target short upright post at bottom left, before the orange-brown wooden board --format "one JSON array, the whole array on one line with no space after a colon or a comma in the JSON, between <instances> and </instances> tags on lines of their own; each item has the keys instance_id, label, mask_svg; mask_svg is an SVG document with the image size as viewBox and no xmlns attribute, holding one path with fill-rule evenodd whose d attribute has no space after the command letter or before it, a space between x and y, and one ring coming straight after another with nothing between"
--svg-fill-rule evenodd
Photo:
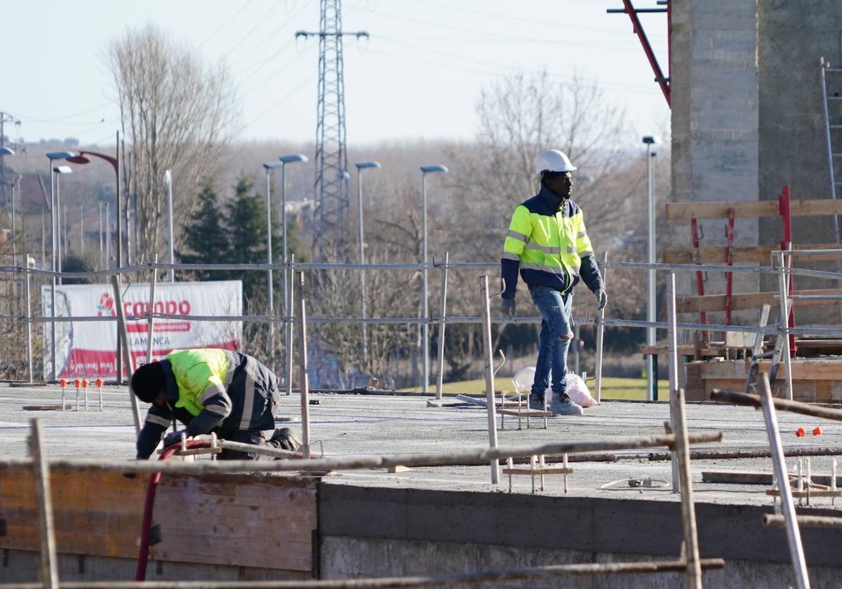
<instances>
[{"instance_id":1,"label":"short upright post at bottom left, before the orange-brown wooden board","mask_svg":"<svg viewBox=\"0 0 842 589\"><path fill-rule=\"evenodd\" d=\"M40 581L45 589L58 585L58 556L56 555L56 534L53 528L52 496L50 492L50 465L47 464L41 447L41 423L32 420L29 432L29 455L32 456L35 471L35 502L38 508L38 529L40 532L41 562Z\"/></svg>"}]
</instances>

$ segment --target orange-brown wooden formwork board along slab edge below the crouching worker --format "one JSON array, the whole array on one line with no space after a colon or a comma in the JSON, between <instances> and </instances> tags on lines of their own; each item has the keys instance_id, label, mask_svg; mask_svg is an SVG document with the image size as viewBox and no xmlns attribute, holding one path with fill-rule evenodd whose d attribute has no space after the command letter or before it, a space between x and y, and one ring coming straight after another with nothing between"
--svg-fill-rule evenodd
<instances>
[{"instance_id":1,"label":"orange-brown wooden formwork board along slab edge below the crouching worker","mask_svg":"<svg viewBox=\"0 0 842 589\"><path fill-rule=\"evenodd\" d=\"M148 476L53 470L50 480L59 553L137 557ZM154 560L309 571L316 484L285 476L165 475L152 525L161 537L151 549ZM29 468L0 469L0 548L40 549Z\"/></svg>"}]
</instances>

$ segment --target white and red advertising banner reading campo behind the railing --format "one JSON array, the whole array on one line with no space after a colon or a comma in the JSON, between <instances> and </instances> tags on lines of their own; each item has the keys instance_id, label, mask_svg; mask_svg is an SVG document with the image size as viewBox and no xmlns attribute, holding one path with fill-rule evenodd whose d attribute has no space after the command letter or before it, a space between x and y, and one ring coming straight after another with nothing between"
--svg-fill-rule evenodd
<instances>
[{"instance_id":1,"label":"white and red advertising banner reading campo behind the railing","mask_svg":"<svg viewBox=\"0 0 842 589\"><path fill-rule=\"evenodd\" d=\"M125 316L142 316L149 310L149 284L123 287ZM51 287L41 289L44 316L51 316ZM190 321L190 316L242 315L242 282L158 283L155 313L178 316L155 319L152 325L152 360L175 349L238 349L242 321ZM117 316L110 284L56 285L56 316ZM56 322L56 379L114 378L117 375L116 321ZM149 322L126 321L129 349L136 366L146 363ZM52 376L52 333L44 324L44 377Z\"/></svg>"}]
</instances>

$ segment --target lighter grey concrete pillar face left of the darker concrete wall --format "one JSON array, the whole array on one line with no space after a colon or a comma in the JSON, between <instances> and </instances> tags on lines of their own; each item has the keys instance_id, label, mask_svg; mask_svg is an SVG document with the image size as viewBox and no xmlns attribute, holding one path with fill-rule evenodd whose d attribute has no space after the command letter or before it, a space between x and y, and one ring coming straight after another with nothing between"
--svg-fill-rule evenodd
<instances>
[{"instance_id":1,"label":"lighter grey concrete pillar face left of the darker concrete wall","mask_svg":"<svg viewBox=\"0 0 842 589\"><path fill-rule=\"evenodd\" d=\"M757 200L758 2L695 0L673 3L672 11L672 199ZM673 244L689 247L690 222L670 223ZM702 247L725 246L726 220L700 225ZM738 219L734 229L735 245L757 245L757 220ZM724 274L707 278L706 293L725 292ZM694 274L680 283L680 293L695 294ZM757 289L754 276L734 275L735 293ZM708 314L708 321L723 319Z\"/></svg>"}]
</instances>

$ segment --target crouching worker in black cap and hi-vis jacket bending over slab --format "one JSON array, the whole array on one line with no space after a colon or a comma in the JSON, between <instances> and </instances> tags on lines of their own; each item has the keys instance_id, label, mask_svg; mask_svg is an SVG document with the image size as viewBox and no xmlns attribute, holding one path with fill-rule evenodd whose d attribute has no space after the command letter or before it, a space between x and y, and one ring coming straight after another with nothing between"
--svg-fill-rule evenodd
<instances>
[{"instance_id":1,"label":"crouching worker in black cap and hi-vis jacket bending over slab","mask_svg":"<svg viewBox=\"0 0 842 589\"><path fill-rule=\"evenodd\" d=\"M174 350L161 362L131 375L131 390L152 403L137 437L137 458L147 459L173 418L187 427L170 432L164 447L215 432L221 439L296 451L301 442L288 428L274 428L278 377L246 354L221 349ZM221 459L269 459L224 449Z\"/></svg>"}]
</instances>

